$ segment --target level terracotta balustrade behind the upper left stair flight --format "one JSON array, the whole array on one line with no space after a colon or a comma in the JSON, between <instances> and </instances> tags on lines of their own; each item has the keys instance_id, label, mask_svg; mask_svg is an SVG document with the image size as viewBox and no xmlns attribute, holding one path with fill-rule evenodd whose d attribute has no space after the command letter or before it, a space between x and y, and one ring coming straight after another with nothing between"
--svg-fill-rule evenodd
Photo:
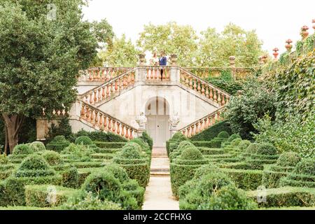
<instances>
[{"instance_id":1,"label":"level terracotta balustrade behind the upper left stair flight","mask_svg":"<svg viewBox=\"0 0 315 224\"><path fill-rule=\"evenodd\" d=\"M90 67L84 71L80 71L78 81L109 81L116 76L119 76L126 71L132 69L131 67Z\"/></svg>"}]
</instances>

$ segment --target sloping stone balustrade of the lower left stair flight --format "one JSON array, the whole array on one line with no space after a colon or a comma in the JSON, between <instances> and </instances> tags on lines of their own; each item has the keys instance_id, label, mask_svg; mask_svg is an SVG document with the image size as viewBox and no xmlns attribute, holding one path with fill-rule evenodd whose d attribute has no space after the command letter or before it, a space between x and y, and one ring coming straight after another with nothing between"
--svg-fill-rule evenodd
<instances>
[{"instance_id":1,"label":"sloping stone balustrade of the lower left stair flight","mask_svg":"<svg viewBox=\"0 0 315 224\"><path fill-rule=\"evenodd\" d=\"M90 104L86 104L83 101L80 101L80 103L80 119L87 121L93 127L99 127L99 130L112 132L126 139L133 139L134 135L139 132L137 128L127 125L117 118L113 118Z\"/></svg>"}]
</instances>

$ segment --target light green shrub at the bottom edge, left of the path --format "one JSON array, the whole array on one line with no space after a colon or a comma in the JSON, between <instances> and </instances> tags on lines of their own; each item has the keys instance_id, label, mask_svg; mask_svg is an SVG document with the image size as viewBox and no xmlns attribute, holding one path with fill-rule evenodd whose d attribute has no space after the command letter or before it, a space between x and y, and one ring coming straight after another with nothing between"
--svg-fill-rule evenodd
<instances>
[{"instance_id":1,"label":"light green shrub at the bottom edge, left of the path","mask_svg":"<svg viewBox=\"0 0 315 224\"><path fill-rule=\"evenodd\" d=\"M62 210L122 210L119 204L108 200L99 200L92 193L80 191L59 207Z\"/></svg>"}]
</instances>

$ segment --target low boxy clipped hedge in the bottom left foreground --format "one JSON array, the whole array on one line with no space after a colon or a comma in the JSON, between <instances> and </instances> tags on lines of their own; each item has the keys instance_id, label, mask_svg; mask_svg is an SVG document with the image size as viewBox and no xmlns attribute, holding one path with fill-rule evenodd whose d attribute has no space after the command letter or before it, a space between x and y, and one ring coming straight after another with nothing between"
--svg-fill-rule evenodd
<instances>
[{"instance_id":1,"label":"low boxy clipped hedge in the bottom left foreground","mask_svg":"<svg viewBox=\"0 0 315 224\"><path fill-rule=\"evenodd\" d=\"M33 185L25 186L27 207L57 207L76 193L76 190L61 186Z\"/></svg>"}]
</instances>

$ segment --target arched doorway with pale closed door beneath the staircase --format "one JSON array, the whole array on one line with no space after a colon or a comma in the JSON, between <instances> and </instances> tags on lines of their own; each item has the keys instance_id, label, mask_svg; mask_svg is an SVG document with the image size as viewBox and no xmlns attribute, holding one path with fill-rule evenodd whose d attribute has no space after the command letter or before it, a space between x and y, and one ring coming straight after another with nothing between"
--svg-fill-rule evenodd
<instances>
[{"instance_id":1,"label":"arched doorway with pale closed door beneath the staircase","mask_svg":"<svg viewBox=\"0 0 315 224\"><path fill-rule=\"evenodd\" d=\"M153 146L165 147L169 139L169 104L165 98L153 97L146 103L146 130L153 138Z\"/></svg>"}]
</instances>

